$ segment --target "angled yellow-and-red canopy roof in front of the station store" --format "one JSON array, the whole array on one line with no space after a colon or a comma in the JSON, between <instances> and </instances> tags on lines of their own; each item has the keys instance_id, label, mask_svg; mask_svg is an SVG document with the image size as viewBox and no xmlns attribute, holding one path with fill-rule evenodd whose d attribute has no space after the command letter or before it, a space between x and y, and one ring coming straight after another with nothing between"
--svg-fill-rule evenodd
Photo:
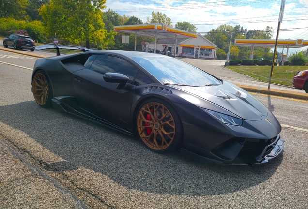
<instances>
[{"instance_id":1,"label":"angled yellow-and-red canopy roof in front of the station store","mask_svg":"<svg viewBox=\"0 0 308 209\"><path fill-rule=\"evenodd\" d=\"M126 26L114 26L114 31L123 33L136 34L138 36L144 36L149 38L197 38L196 33L191 33L185 30L171 28L165 24L141 24L141 25L126 25Z\"/></svg>"}]
</instances>

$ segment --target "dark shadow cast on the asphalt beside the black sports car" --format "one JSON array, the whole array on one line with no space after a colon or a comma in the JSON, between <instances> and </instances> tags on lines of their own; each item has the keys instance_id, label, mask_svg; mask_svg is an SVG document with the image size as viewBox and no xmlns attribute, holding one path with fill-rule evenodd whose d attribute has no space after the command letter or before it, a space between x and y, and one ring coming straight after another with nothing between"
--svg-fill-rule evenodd
<instances>
[{"instance_id":1,"label":"dark shadow cast on the asphalt beside the black sports car","mask_svg":"<svg viewBox=\"0 0 308 209\"><path fill-rule=\"evenodd\" d=\"M62 172L82 166L126 188L149 193L196 196L245 190L268 180L283 159L281 154L267 164L221 166L191 161L178 153L157 154L135 137L41 108L34 101L1 106L0 122L65 160L46 164L47 170Z\"/></svg>"}]
</instances>

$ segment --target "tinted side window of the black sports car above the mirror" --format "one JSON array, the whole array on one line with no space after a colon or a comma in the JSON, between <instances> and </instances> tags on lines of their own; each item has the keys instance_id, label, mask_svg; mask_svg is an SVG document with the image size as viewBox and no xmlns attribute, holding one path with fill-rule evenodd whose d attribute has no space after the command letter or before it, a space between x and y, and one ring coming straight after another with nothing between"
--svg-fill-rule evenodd
<instances>
[{"instance_id":1,"label":"tinted side window of the black sports car above the mirror","mask_svg":"<svg viewBox=\"0 0 308 209\"><path fill-rule=\"evenodd\" d=\"M137 68L132 64L118 57L110 55L98 55L93 61L90 70L98 73L121 73L126 75L129 80L127 83L132 83L134 76L137 72Z\"/></svg>"}]
</instances>

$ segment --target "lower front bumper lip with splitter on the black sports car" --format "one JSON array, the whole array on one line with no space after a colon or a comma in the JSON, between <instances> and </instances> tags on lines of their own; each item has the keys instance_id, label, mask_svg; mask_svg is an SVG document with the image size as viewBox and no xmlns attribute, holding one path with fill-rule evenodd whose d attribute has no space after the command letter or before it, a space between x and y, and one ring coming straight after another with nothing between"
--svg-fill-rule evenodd
<instances>
[{"instance_id":1,"label":"lower front bumper lip with splitter on the black sports car","mask_svg":"<svg viewBox=\"0 0 308 209\"><path fill-rule=\"evenodd\" d=\"M183 148L181 149L181 155L183 155L185 158L190 158L201 162L214 162L223 165L248 165L248 164L268 163L269 160L277 157L282 152L283 149L284 149L284 140L280 138L280 135L277 135L273 143L265 146L262 152L257 157L250 160L243 161L239 160L238 158L235 158L233 160L223 160L218 158L214 159L198 155ZM241 157L243 158L243 156Z\"/></svg>"}]
</instances>

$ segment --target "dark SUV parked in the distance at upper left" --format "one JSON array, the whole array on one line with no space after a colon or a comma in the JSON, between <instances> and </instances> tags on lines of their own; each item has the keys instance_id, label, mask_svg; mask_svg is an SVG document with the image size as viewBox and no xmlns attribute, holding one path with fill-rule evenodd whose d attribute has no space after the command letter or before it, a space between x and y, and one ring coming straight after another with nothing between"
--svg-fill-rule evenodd
<instances>
[{"instance_id":1,"label":"dark SUV parked in the distance at upper left","mask_svg":"<svg viewBox=\"0 0 308 209\"><path fill-rule=\"evenodd\" d=\"M14 49L30 49L30 51L34 51L35 42L30 36L12 34L3 39L3 46L4 48L12 46Z\"/></svg>"}]
</instances>

